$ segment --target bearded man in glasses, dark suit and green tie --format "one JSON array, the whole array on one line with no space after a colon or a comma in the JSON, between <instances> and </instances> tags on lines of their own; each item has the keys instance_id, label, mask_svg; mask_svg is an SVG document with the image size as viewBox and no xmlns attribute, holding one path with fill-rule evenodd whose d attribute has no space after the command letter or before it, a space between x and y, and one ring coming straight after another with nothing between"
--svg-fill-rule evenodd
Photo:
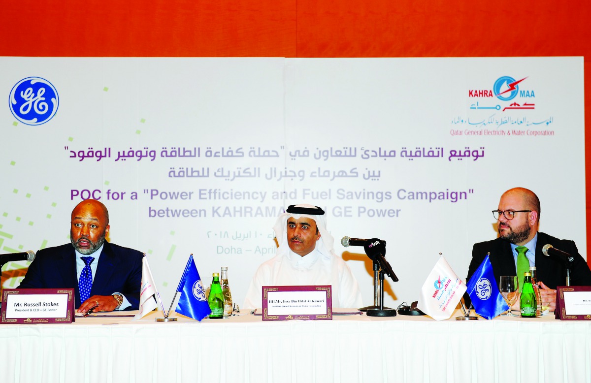
<instances>
[{"instance_id":1,"label":"bearded man in glasses, dark suit and green tie","mask_svg":"<svg viewBox=\"0 0 591 383\"><path fill-rule=\"evenodd\" d=\"M544 245L550 244L574 257L570 266L571 285L591 285L591 271L574 242L538 232L540 200L531 190L516 187L505 191L493 215L498 220L499 238L474 245L466 280L470 280L488 253L491 254L489 259L497 282L501 275L518 275L518 259L522 253L527 259L524 259L526 267L531 265L536 268L542 306L549 306L553 311L556 307L556 287L566 285L566 268L560 259L543 254ZM518 277L521 284L523 275ZM466 297L467 294L465 301L469 304Z\"/></svg>"}]
</instances>

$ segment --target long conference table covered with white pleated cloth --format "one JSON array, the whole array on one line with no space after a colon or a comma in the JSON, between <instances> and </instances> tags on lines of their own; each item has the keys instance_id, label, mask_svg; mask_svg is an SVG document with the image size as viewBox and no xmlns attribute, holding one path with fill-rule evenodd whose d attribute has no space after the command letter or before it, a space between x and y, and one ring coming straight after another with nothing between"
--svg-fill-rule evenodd
<instances>
[{"instance_id":1,"label":"long conference table covered with white pleated cloth","mask_svg":"<svg viewBox=\"0 0 591 383\"><path fill-rule=\"evenodd\" d=\"M1 324L2 382L591 382L591 322L519 317L436 322L157 323L87 317Z\"/></svg>"}]
</instances>

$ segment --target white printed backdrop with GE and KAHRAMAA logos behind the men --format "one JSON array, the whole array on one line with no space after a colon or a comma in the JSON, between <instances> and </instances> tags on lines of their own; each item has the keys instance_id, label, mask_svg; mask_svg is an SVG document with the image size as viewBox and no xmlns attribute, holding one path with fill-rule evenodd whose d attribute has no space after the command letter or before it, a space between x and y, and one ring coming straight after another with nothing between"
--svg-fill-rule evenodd
<instances>
[{"instance_id":1,"label":"white printed backdrop with GE and KAHRAMAA logos behind the men","mask_svg":"<svg viewBox=\"0 0 591 383\"><path fill-rule=\"evenodd\" d=\"M466 275L499 196L524 186L541 231L586 257L582 57L0 61L2 253L69 242L70 212L94 197L109 241L147 254L165 306L189 254L206 285L228 266L242 303L277 215L311 203L364 304L371 261L340 238L387 241L395 307L440 253Z\"/></svg>"}]
</instances>

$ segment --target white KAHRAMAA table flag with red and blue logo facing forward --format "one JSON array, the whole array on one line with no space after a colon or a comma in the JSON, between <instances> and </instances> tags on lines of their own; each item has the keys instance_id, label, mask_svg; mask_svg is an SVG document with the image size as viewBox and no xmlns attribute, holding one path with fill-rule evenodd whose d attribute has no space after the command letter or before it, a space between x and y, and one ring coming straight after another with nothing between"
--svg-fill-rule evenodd
<instances>
[{"instance_id":1,"label":"white KAHRAMAA table flag with red and blue logo facing forward","mask_svg":"<svg viewBox=\"0 0 591 383\"><path fill-rule=\"evenodd\" d=\"M466 292L466 284L440 257L421 288L417 308L435 320L449 319Z\"/></svg>"}]
</instances>

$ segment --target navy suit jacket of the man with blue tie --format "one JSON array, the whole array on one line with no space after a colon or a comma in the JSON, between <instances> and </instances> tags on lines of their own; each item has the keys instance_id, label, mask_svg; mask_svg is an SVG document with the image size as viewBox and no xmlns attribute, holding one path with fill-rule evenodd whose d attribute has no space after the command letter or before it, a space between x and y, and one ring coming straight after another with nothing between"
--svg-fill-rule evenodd
<instances>
[{"instance_id":1,"label":"navy suit jacket of the man with blue tie","mask_svg":"<svg viewBox=\"0 0 591 383\"><path fill-rule=\"evenodd\" d=\"M90 296L118 292L131 303L131 310L139 309L143 256L137 250L105 241ZM38 251L18 288L74 288L76 308L80 307L74 246L66 244Z\"/></svg>"}]
</instances>

